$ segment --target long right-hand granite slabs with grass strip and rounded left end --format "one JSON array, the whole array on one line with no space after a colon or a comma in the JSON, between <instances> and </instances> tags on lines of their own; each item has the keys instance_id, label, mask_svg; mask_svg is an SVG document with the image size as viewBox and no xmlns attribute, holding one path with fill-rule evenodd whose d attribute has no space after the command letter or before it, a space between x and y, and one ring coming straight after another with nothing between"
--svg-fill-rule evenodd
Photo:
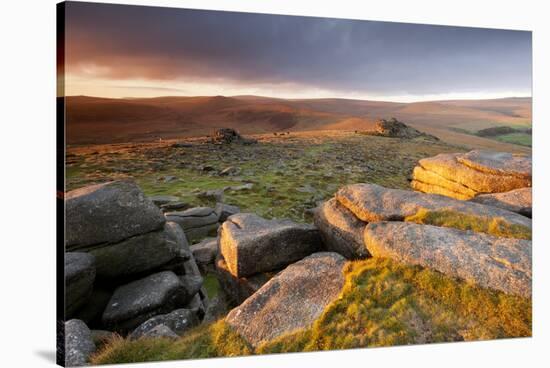
<instances>
[{"instance_id":1,"label":"long right-hand granite slabs with grass strip and rounded left end","mask_svg":"<svg viewBox=\"0 0 550 368\"><path fill-rule=\"evenodd\" d=\"M392 258L531 296L532 225L518 213L363 183L338 190L316 209L314 222L325 249L348 259Z\"/></svg>"}]
</instances>

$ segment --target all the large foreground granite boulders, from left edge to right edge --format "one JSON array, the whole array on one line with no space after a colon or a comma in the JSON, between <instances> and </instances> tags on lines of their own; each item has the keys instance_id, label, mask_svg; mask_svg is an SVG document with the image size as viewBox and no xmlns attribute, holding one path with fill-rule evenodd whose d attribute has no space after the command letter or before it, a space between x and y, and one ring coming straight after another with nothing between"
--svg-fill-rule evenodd
<instances>
[{"instance_id":1,"label":"all the large foreground granite boulders, from left edge to right edge","mask_svg":"<svg viewBox=\"0 0 550 368\"><path fill-rule=\"evenodd\" d=\"M311 326L339 298L352 259L391 258L530 298L530 159L438 155L420 160L413 177L420 191L346 185L318 204L314 225L220 203L171 211L185 206L158 196L154 204L125 181L68 193L67 364L86 364L96 350L88 326L177 339L223 318L260 347ZM210 306L207 274L220 285Z\"/></svg>"}]
</instances>

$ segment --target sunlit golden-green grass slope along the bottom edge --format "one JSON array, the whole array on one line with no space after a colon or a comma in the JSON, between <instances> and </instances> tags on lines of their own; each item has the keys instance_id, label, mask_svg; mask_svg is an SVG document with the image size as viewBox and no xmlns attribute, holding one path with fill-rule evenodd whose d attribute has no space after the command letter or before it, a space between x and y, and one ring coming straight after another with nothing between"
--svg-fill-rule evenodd
<instances>
[{"instance_id":1,"label":"sunlit golden-green grass slope along the bottom edge","mask_svg":"<svg viewBox=\"0 0 550 368\"><path fill-rule=\"evenodd\" d=\"M252 349L224 321L176 341L116 338L94 364L531 336L531 300L389 259L349 262L340 298L314 324Z\"/></svg>"}]
</instances>

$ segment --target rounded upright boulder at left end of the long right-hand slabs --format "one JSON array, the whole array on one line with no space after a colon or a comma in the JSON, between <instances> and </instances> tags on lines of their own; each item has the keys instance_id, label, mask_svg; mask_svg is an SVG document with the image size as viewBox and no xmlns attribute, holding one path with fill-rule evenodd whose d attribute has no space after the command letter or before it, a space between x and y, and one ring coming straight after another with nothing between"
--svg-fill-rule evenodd
<instances>
[{"instance_id":1,"label":"rounded upright boulder at left end of the long right-hand slabs","mask_svg":"<svg viewBox=\"0 0 550 368\"><path fill-rule=\"evenodd\" d=\"M366 223L359 220L334 198L314 211L313 221L319 229L325 249L348 259L366 258L370 254L363 242Z\"/></svg>"}]
</instances>

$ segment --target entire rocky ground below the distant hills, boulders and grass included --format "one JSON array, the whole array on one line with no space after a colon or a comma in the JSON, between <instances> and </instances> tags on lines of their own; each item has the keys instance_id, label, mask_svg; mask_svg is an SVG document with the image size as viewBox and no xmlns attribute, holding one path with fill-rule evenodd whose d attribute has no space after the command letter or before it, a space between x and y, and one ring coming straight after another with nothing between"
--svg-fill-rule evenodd
<instances>
[{"instance_id":1,"label":"entire rocky ground below the distant hills, boulders and grass included","mask_svg":"<svg viewBox=\"0 0 550 368\"><path fill-rule=\"evenodd\" d=\"M530 158L384 129L69 147L67 364L530 336Z\"/></svg>"}]
</instances>

